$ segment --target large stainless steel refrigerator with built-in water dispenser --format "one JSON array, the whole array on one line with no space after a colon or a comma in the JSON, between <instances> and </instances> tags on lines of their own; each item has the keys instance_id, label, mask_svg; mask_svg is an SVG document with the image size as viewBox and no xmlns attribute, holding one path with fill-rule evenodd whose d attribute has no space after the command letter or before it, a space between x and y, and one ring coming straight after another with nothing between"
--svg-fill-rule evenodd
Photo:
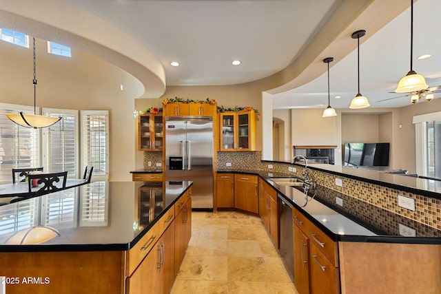
<instances>
[{"instance_id":1,"label":"large stainless steel refrigerator with built-in water dispenser","mask_svg":"<svg viewBox=\"0 0 441 294\"><path fill-rule=\"evenodd\" d=\"M192 209L213 209L212 116L165 117L165 179L192 180Z\"/></svg>"}]
</instances>

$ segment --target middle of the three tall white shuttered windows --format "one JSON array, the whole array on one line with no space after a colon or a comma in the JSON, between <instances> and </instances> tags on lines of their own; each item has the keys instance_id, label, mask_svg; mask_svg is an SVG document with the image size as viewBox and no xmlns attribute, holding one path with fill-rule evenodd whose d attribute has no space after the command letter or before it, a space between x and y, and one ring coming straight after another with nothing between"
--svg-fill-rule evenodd
<instances>
[{"instance_id":1,"label":"middle of the three tall white shuttered windows","mask_svg":"<svg viewBox=\"0 0 441 294\"><path fill-rule=\"evenodd\" d=\"M79 178L78 112L69 109L43 109L46 116L61 120L43 129L43 160L45 171L68 171L68 178Z\"/></svg>"}]
</instances>

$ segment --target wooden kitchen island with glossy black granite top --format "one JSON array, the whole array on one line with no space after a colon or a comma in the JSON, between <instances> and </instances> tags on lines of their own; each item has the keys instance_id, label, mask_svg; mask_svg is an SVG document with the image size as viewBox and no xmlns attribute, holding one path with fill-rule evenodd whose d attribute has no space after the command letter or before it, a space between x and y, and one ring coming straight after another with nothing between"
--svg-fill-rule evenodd
<instances>
[{"instance_id":1,"label":"wooden kitchen island with glossy black granite top","mask_svg":"<svg viewBox=\"0 0 441 294\"><path fill-rule=\"evenodd\" d=\"M91 182L1 206L0 289L167 293L191 236L191 186ZM32 227L56 234L19 244Z\"/></svg>"}]
</instances>

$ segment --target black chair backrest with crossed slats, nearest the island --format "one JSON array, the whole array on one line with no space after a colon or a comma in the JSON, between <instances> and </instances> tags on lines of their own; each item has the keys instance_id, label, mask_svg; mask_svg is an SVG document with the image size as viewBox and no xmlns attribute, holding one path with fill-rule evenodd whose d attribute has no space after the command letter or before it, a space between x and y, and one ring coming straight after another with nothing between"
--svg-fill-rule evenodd
<instances>
[{"instance_id":1,"label":"black chair backrest with crossed slats, nearest the island","mask_svg":"<svg viewBox=\"0 0 441 294\"><path fill-rule=\"evenodd\" d=\"M37 180L39 189L38 191L34 191L34 193L39 196L65 189L66 180L68 179L68 171L52 174L30 174L28 179L29 193L32 192L32 180Z\"/></svg>"}]
</instances>

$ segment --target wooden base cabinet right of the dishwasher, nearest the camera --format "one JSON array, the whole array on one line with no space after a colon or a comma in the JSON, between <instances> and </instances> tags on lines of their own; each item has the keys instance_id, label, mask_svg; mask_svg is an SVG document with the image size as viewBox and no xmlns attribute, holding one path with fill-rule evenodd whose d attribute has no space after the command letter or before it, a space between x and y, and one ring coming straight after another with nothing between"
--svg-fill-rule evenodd
<instances>
[{"instance_id":1,"label":"wooden base cabinet right of the dishwasher, nearest the camera","mask_svg":"<svg viewBox=\"0 0 441 294\"><path fill-rule=\"evenodd\" d=\"M338 244L296 208L292 215L294 284L299 294L340 293Z\"/></svg>"}]
</instances>

